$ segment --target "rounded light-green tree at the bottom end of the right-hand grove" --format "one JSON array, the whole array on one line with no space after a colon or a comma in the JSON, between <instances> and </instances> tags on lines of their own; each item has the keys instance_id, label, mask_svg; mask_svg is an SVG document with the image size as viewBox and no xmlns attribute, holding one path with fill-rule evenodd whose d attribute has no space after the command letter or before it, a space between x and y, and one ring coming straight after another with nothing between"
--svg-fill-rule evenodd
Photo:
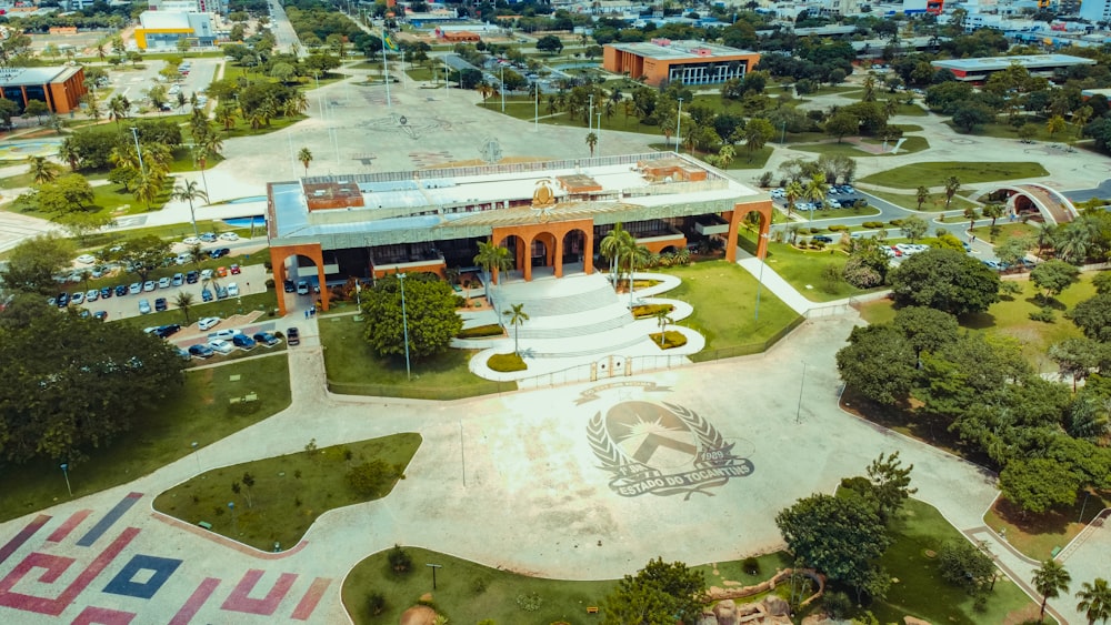
<instances>
[{"instance_id":1,"label":"rounded light-green tree at the bottom end of the right-hand grove","mask_svg":"<svg viewBox=\"0 0 1111 625\"><path fill-rule=\"evenodd\" d=\"M1055 460L1014 458L1000 472L999 490L1023 514L1041 514L1077 501L1080 476Z\"/></svg>"}]
</instances>

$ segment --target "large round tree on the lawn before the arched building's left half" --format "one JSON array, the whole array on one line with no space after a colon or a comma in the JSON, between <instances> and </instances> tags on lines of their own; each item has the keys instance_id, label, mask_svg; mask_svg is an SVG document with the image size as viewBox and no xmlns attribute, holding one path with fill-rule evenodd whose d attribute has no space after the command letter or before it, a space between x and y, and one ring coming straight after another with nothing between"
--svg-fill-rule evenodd
<instances>
[{"instance_id":1,"label":"large round tree on the lawn before the arched building's left half","mask_svg":"<svg viewBox=\"0 0 1111 625\"><path fill-rule=\"evenodd\" d=\"M401 288L401 280L391 275L363 291L367 342L379 355L403 355L408 326L410 356L420 360L447 350L463 327L463 320L456 312L454 291L433 274L409 274L404 281L403 320Z\"/></svg>"}]
</instances>

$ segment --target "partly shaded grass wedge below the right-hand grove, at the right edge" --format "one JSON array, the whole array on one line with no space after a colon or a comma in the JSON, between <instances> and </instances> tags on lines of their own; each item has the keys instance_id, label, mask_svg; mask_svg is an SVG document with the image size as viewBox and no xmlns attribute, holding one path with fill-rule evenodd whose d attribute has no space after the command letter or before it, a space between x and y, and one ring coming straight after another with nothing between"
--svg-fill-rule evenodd
<instances>
[{"instance_id":1,"label":"partly shaded grass wedge below the right-hand grove, at the right edge","mask_svg":"<svg viewBox=\"0 0 1111 625\"><path fill-rule=\"evenodd\" d=\"M1055 547L1064 548L1108 506L1111 506L1111 493L1092 493L1088 496L1084 491L1071 506L1042 514L1023 514L1000 497L983 515L983 521L995 532L1004 530L1007 542L1019 552L1043 561L1053 556Z\"/></svg>"}]
</instances>

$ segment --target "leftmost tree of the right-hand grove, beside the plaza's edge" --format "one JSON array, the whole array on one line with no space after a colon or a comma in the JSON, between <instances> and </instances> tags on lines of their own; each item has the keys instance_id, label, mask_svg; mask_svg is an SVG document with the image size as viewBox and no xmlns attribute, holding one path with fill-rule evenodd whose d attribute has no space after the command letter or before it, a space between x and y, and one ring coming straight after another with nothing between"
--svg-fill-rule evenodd
<instances>
[{"instance_id":1,"label":"leftmost tree of the right-hand grove, beside the plaza's edge","mask_svg":"<svg viewBox=\"0 0 1111 625\"><path fill-rule=\"evenodd\" d=\"M890 325L852 329L849 345L837 353L841 379L869 400L892 405L905 401L918 377L914 347Z\"/></svg>"}]
</instances>

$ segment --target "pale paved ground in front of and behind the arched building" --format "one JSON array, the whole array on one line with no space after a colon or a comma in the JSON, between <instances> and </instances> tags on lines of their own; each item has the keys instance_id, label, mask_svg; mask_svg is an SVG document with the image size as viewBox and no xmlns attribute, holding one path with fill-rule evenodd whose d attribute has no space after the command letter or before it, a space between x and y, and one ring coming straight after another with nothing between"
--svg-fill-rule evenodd
<instances>
[{"instance_id":1,"label":"pale paved ground in front of and behind the arched building","mask_svg":"<svg viewBox=\"0 0 1111 625\"><path fill-rule=\"evenodd\" d=\"M228 160L207 174L213 201L258 196L268 181L303 175L291 158L302 145L316 154L310 174L477 160L489 138L512 158L589 154L584 129L537 133L530 122L476 108L474 93L410 84L392 91L390 105L381 87L339 83L320 93L310 95L312 119L227 143ZM603 132L600 148L639 152L659 139ZM962 160L962 150L884 158L883 165ZM978 153L1039 160L1013 150ZM791 154L777 151L768 169ZM1054 177L1060 170L1063 188L1091 187L1105 170L1089 163L1103 170L1085 184L1080 171L1089 168L1069 159L1043 161ZM879 167L861 161L862 170ZM201 209L198 216L242 210ZM176 203L148 223L187 219L188 208ZM771 274L765 285L790 298ZM809 306L798 294L787 301ZM993 475L838 407L833 356L860 323L851 312L809 321L761 355L442 403L328 394L316 322L292 314L304 336L289 352L288 410L130 484L0 524L0 622L341 623L344 575L396 543L567 578L619 577L655 556L734 560L782 546L779 510L832 492L841 477L895 451L914 464L918 497L990 541L1010 573L1030 578L1033 565L982 528L997 495ZM423 436L407 480L384 500L326 514L283 553L246 548L151 510L154 496L198 472L301 451L310 438L326 446L396 432ZM1073 589L1105 575L1109 541L1098 528L1070 553ZM1051 605L1081 622L1071 594Z\"/></svg>"}]
</instances>

